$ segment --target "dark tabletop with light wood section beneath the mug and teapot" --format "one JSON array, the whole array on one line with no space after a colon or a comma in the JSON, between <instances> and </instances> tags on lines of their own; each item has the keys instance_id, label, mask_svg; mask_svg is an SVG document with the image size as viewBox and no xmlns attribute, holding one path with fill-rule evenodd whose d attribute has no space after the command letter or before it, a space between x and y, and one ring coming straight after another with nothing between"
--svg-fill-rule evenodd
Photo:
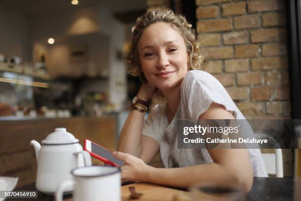
<instances>
[{"instance_id":1,"label":"dark tabletop with light wood section beneath the mug and teapot","mask_svg":"<svg viewBox=\"0 0 301 201\"><path fill-rule=\"evenodd\" d=\"M136 192L143 193L140 199L129 199L128 187L134 186ZM248 201L292 201L294 178L254 177L252 190L248 193ZM35 184L23 186L16 190L35 190ZM187 195L189 192L146 183L128 184L121 187L122 201L174 201L175 195ZM24 199L25 201L54 201L53 196L38 192L36 199ZM16 201L6 199L5 201ZM64 196L64 201L72 201L72 196Z\"/></svg>"}]
</instances>

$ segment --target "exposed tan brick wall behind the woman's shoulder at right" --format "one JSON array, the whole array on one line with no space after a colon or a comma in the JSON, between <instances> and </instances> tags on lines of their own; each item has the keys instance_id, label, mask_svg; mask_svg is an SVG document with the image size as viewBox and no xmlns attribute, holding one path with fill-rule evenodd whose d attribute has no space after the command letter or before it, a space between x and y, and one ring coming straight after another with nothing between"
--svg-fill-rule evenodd
<instances>
[{"instance_id":1,"label":"exposed tan brick wall behind the woman's shoulder at right","mask_svg":"<svg viewBox=\"0 0 301 201\"><path fill-rule=\"evenodd\" d=\"M204 70L246 118L289 118L285 0L196 0Z\"/></svg>"}]
</instances>

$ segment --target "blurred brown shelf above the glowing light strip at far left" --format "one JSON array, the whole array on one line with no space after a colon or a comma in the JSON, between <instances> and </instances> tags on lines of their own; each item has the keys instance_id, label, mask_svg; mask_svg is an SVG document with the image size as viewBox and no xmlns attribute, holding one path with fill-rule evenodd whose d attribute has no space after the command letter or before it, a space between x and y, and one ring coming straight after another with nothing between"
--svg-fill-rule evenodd
<instances>
[{"instance_id":1,"label":"blurred brown shelf above the glowing light strip at far left","mask_svg":"<svg viewBox=\"0 0 301 201\"><path fill-rule=\"evenodd\" d=\"M12 65L12 64L6 64L0 62L0 71L31 75L32 77L40 78L44 80L50 79L50 76L47 73L47 71L43 69L33 69L32 67L28 67L26 65Z\"/></svg>"}]
</instances>

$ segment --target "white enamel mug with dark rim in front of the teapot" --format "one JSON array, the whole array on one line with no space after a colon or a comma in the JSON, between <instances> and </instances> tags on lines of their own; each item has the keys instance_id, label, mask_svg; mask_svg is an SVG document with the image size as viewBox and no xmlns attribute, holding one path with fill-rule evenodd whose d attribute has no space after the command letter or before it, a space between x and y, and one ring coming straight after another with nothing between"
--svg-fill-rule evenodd
<instances>
[{"instance_id":1,"label":"white enamel mug with dark rim in front of the teapot","mask_svg":"<svg viewBox=\"0 0 301 201\"><path fill-rule=\"evenodd\" d=\"M62 201L65 188L74 185L73 201L120 201L120 168L110 166L78 167L71 171L74 180L60 184L56 201Z\"/></svg>"}]
</instances>

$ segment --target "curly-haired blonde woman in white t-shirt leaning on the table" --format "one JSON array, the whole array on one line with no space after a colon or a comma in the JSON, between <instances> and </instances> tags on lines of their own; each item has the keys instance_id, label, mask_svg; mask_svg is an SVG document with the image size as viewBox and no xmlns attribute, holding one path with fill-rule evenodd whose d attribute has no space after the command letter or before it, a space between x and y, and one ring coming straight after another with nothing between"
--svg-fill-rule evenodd
<instances>
[{"instance_id":1,"label":"curly-haired blonde woman in white t-shirt leaning on the table","mask_svg":"<svg viewBox=\"0 0 301 201\"><path fill-rule=\"evenodd\" d=\"M177 119L245 119L223 86L199 69L203 57L194 30L169 9L148 11L133 28L130 73L140 76L137 99L120 134L115 156L123 180L186 188L201 181L240 185L267 176L259 149L178 149ZM156 91L167 100L144 122ZM160 151L165 168L148 166Z\"/></svg>"}]
</instances>

